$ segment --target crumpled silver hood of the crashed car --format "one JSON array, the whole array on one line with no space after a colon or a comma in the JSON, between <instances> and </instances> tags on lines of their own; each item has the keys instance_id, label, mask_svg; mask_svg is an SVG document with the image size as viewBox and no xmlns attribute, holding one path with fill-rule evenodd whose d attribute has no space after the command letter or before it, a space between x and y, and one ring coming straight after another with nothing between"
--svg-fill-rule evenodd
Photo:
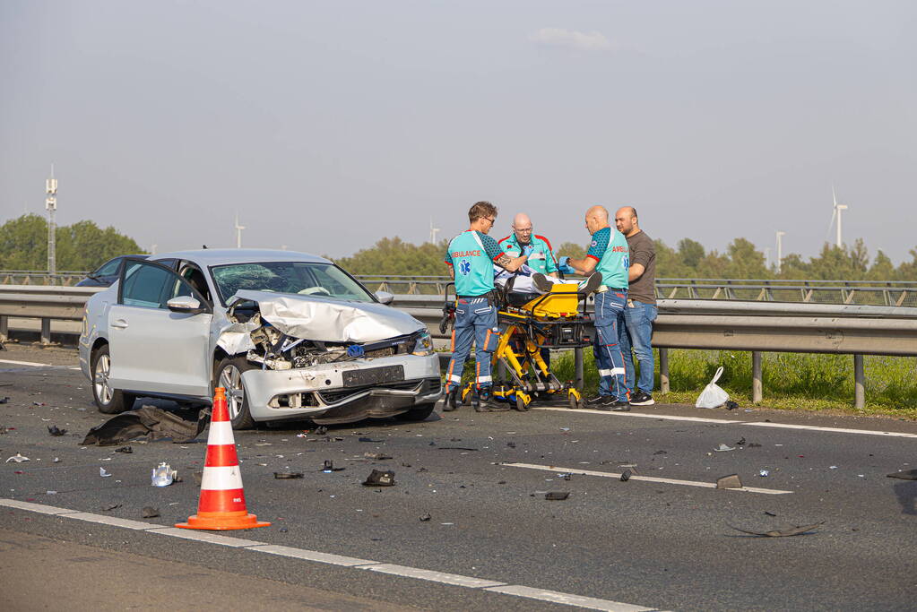
<instances>
[{"instance_id":1,"label":"crumpled silver hood of the crashed car","mask_svg":"<svg viewBox=\"0 0 917 612\"><path fill-rule=\"evenodd\" d=\"M229 299L258 303L261 319L294 338L368 343L424 328L411 315L375 302L327 300L312 295L240 290Z\"/></svg>"}]
</instances>

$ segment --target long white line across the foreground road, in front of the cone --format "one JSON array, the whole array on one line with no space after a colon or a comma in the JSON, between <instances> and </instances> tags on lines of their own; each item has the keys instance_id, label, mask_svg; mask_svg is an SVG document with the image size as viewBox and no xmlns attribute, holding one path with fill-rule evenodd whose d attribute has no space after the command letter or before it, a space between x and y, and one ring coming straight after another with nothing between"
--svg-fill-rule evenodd
<instances>
[{"instance_id":1,"label":"long white line across the foreground road, in front of the cone","mask_svg":"<svg viewBox=\"0 0 917 612\"><path fill-rule=\"evenodd\" d=\"M558 593L557 591L546 591L525 585L507 585L496 580L488 580L486 578L477 578L474 576L446 574L444 572L425 570L417 567L408 567L405 565L396 565L393 563L380 563L378 561L370 561L369 559L345 557L337 554L330 554L328 552L307 551L304 549L292 548L289 546L277 546L263 541L231 538L225 535L218 535L208 531L180 530L173 527L159 525L157 523L146 523L139 520L106 517L101 514L80 512L78 510L72 510L68 508L56 508L54 506L45 506L43 504L33 504L28 501L20 501L18 499L5 499L0 497L0 506L6 506L6 508L28 510L30 512L39 512L41 514L49 514L61 517L62 519L78 519L122 529L142 530L146 531L147 533L155 533L159 535L170 536L173 538L182 538L183 540L202 541L209 544L230 546L238 549L239 551L278 554L284 557L302 559L309 562L343 565L345 567L351 567L359 570L370 570L380 574L403 576L407 578L414 578L416 580L435 582L443 585L462 586L474 590L501 593L508 596L548 601L564 606L584 607L592 610L606 610L607 612L653 612L654 610L659 609L656 607L642 607L635 606L633 604L624 604L608 599L598 599L595 597L579 596L570 593Z\"/></svg>"}]
</instances>

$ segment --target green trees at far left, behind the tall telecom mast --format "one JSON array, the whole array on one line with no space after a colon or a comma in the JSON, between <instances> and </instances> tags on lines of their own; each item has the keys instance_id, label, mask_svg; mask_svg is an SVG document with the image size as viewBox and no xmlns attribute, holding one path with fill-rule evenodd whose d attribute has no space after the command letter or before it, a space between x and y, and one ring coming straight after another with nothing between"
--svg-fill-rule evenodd
<instances>
[{"instance_id":1,"label":"green trees at far left, behind the tall telecom mast","mask_svg":"<svg viewBox=\"0 0 917 612\"><path fill-rule=\"evenodd\" d=\"M112 257L146 253L133 238L114 227L102 229L92 221L60 225L55 232L58 270L93 270ZM0 226L0 269L48 269L48 221L23 214Z\"/></svg>"}]
</instances>

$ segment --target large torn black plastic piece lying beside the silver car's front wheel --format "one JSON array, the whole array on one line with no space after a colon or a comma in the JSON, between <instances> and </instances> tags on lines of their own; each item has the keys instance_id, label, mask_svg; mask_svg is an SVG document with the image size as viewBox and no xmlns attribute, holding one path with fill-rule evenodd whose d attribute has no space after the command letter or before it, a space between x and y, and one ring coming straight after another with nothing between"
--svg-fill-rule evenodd
<instances>
[{"instance_id":1,"label":"large torn black plastic piece lying beside the silver car's front wheel","mask_svg":"<svg viewBox=\"0 0 917 612\"><path fill-rule=\"evenodd\" d=\"M115 446L140 436L151 440L171 438L173 443L191 442L204 431L210 421L210 409L201 410L197 421L185 421L179 416L155 406L141 406L112 417L89 430L82 446Z\"/></svg>"}]
</instances>

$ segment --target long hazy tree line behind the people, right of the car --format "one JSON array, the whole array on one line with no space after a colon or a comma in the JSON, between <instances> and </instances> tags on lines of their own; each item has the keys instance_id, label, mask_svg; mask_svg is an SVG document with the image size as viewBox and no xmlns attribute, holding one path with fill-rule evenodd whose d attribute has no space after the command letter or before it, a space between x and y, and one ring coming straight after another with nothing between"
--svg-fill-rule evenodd
<instances>
[{"instance_id":1,"label":"long hazy tree line behind the people, right of the car","mask_svg":"<svg viewBox=\"0 0 917 612\"><path fill-rule=\"evenodd\" d=\"M821 252L808 259L793 253L783 258L780 273L776 264L766 263L764 253L746 238L735 238L724 252L707 250L691 238L668 246L656 240L657 279L807 279L807 280L913 280L917 281L917 248L911 261L895 267L888 256L878 251L870 257L862 238L853 246L825 244ZM334 258L352 274L392 276L443 276L447 241L438 245L413 245L401 238L382 238L350 257ZM584 257L585 249L576 243L563 243L558 257ZM329 257L331 258L331 257Z\"/></svg>"}]
</instances>

